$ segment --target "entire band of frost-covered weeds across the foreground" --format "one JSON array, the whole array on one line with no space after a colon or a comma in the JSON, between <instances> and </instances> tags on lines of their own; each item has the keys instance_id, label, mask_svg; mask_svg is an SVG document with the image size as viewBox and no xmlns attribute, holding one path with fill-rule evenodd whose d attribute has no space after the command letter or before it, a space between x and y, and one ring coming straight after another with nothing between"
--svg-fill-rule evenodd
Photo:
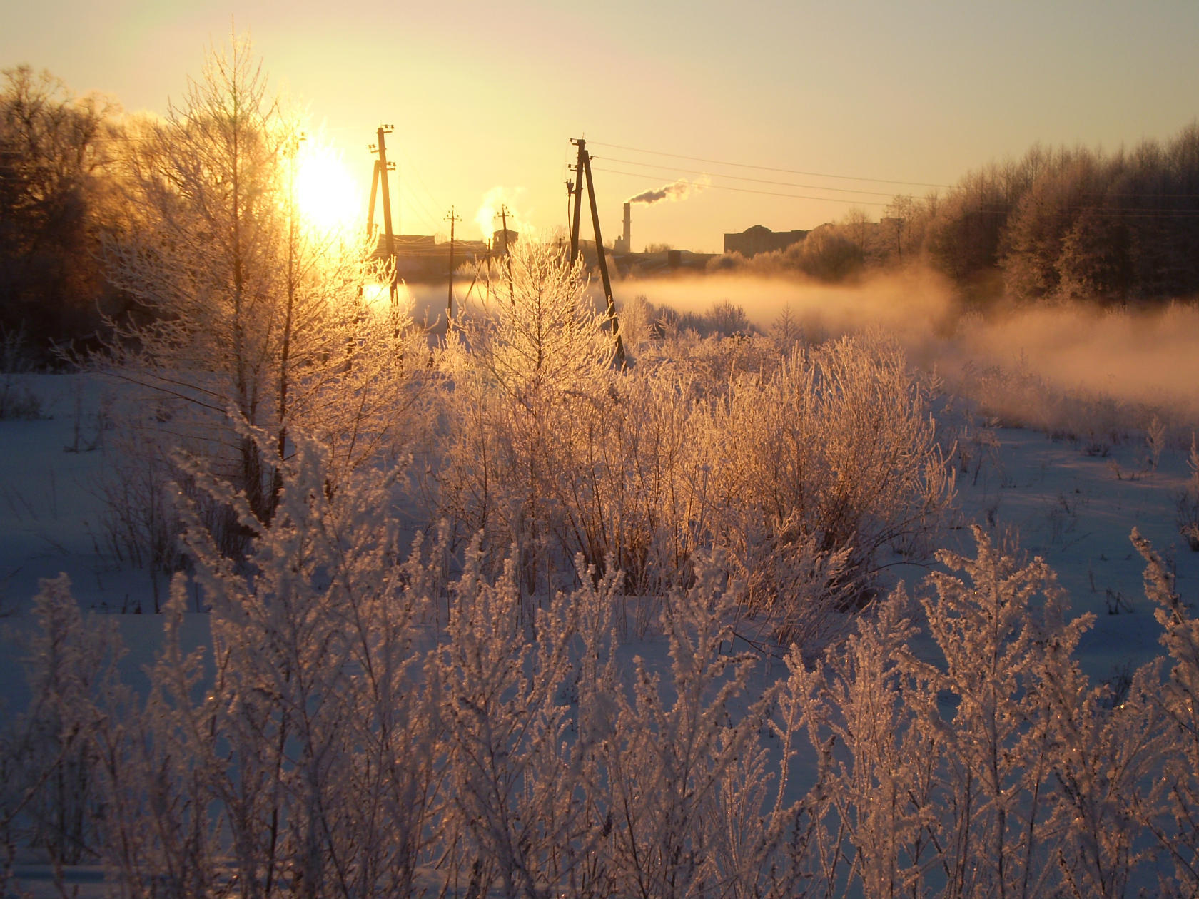
<instances>
[{"instance_id":1,"label":"entire band of frost-covered weeds across the foreground","mask_svg":"<svg viewBox=\"0 0 1199 899\"><path fill-rule=\"evenodd\" d=\"M1199 887L1199 630L1135 533L1169 658L1119 705L1073 659L1089 616L981 530L918 605L896 591L775 680L731 650L739 590L701 555L663 599L669 659L629 664L615 572L530 619L516 555L493 575L476 544L446 579L445 535L402 561L386 479L330 494L305 440L290 465L245 569L189 531L211 646L183 651L176 581L144 699L46 585L10 840L97 852L127 895Z\"/></svg>"}]
</instances>

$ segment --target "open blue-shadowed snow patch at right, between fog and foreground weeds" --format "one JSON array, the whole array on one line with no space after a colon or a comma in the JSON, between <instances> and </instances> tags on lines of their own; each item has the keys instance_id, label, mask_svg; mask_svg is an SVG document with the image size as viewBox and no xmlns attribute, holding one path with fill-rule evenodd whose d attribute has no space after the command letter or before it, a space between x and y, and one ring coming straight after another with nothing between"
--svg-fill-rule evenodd
<instances>
[{"instance_id":1,"label":"open blue-shadowed snow patch at right, between fog and foreground weeds","mask_svg":"<svg viewBox=\"0 0 1199 899\"><path fill-rule=\"evenodd\" d=\"M1041 556L1058 573L1072 610L1095 614L1079 647L1084 670L1107 680L1159 654L1161 628L1143 590L1144 560L1128 535L1137 527L1173 563L1185 602L1199 598L1199 554L1175 520L1189 476L1187 454L1167 448L1153 470L1139 436L1107 454L1017 428L990 429L980 442L969 471L958 473L959 521L998 537L1018 535L1023 553ZM942 545L972 555L964 526L945 535Z\"/></svg>"}]
</instances>

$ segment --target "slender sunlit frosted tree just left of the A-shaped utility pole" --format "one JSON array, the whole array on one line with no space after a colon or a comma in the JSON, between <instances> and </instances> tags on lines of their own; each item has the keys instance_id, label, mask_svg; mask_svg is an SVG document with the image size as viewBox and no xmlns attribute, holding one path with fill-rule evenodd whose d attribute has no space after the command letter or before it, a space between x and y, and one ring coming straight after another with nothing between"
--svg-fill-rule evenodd
<instances>
[{"instance_id":1,"label":"slender sunlit frosted tree just left of the A-shaped utility pole","mask_svg":"<svg viewBox=\"0 0 1199 899\"><path fill-rule=\"evenodd\" d=\"M465 328L469 352L452 351L457 434L441 478L450 511L492 547L520 543L526 592L547 575L547 548L559 530L570 441L602 415L615 346L596 312L582 260L550 243L510 249L510 290ZM582 547L567 545L562 565ZM541 560L541 561L538 561ZM540 571L538 571L540 567Z\"/></svg>"}]
</instances>

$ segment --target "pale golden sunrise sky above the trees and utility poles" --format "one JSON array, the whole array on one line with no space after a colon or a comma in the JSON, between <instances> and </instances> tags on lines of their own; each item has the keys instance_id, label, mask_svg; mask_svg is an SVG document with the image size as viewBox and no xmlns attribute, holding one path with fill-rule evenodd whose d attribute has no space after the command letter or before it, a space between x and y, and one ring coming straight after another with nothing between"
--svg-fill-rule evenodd
<instances>
[{"instance_id":1,"label":"pale golden sunrise sky above the trees and utility poles","mask_svg":"<svg viewBox=\"0 0 1199 899\"><path fill-rule=\"evenodd\" d=\"M592 152L605 242L623 200L687 179L685 199L633 206L633 248L719 252L754 224L811 229L854 205L876 219L894 194L944 192L1035 143L1131 149L1199 117L1194 0L4 6L0 67L128 111L165 113L211 47L248 34L350 170L363 219L367 145L394 125L405 234L447 233L452 206L477 239L499 203L522 230L565 227L571 138Z\"/></svg>"}]
</instances>

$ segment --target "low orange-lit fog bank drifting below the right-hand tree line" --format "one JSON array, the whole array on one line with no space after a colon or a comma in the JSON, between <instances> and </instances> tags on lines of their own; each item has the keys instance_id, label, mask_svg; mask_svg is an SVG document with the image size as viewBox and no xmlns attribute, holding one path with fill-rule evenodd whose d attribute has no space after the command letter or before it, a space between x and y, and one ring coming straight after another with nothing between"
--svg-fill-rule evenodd
<instances>
[{"instance_id":1,"label":"low orange-lit fog bank drifting below the right-hand tree line","mask_svg":"<svg viewBox=\"0 0 1199 899\"><path fill-rule=\"evenodd\" d=\"M619 302L644 295L657 306L699 314L728 300L766 333L789 309L809 340L876 327L894 334L914 364L935 368L951 386L986 375L1011 385L1013 393L1017 384L1020 393L1056 393L1059 404L1071 398L1133 404L1144 406L1137 417L1161 412L1175 428L1199 426L1199 308L1193 303L1152 310L1010 303L983 315L964 312L947 282L928 272L855 285L736 274L626 280L615 294Z\"/></svg>"}]
</instances>

